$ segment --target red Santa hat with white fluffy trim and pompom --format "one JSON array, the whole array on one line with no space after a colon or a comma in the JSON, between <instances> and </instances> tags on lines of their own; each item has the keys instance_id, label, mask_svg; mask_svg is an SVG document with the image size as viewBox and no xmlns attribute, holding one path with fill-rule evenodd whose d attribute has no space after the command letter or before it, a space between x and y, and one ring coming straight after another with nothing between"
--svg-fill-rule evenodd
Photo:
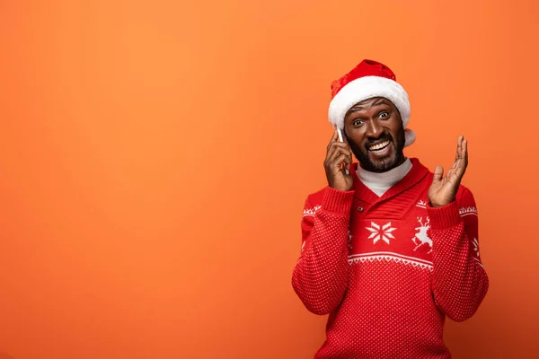
<instances>
[{"instance_id":1,"label":"red Santa hat with white fluffy trim and pompom","mask_svg":"<svg viewBox=\"0 0 539 359\"><path fill-rule=\"evenodd\" d=\"M399 110L404 127L405 146L413 144L415 134L406 128L410 120L408 93L397 83L393 71L384 64L363 60L352 71L331 83L329 118L333 127L344 128L346 113L358 102L384 97Z\"/></svg>"}]
</instances>

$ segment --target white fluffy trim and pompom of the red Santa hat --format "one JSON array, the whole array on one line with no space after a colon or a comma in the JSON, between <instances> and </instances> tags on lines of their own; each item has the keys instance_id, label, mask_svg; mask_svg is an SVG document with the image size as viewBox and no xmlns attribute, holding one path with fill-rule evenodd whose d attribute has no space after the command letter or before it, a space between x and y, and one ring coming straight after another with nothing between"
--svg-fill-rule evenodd
<instances>
[{"instance_id":1,"label":"white fluffy trim and pompom of the red Santa hat","mask_svg":"<svg viewBox=\"0 0 539 359\"><path fill-rule=\"evenodd\" d=\"M406 128L410 120L410 101L408 93L400 83L380 76L364 76L347 83L330 102L329 119L333 127L344 128L346 113L358 102L384 97L392 101L399 110L402 118L402 127ZM407 143L415 140L413 132L408 130ZM407 144L407 145L410 145Z\"/></svg>"}]
</instances>

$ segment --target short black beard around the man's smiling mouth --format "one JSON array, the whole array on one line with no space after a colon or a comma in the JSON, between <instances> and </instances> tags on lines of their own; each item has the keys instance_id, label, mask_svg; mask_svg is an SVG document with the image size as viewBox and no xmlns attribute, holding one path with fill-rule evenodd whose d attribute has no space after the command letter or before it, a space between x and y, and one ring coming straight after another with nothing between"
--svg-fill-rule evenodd
<instances>
[{"instance_id":1,"label":"short black beard around the man's smiling mouth","mask_svg":"<svg viewBox=\"0 0 539 359\"><path fill-rule=\"evenodd\" d=\"M401 128L399 133L397 134L397 142L394 144L393 137L387 133L384 132L382 136L379 138L376 138L376 141L384 141L388 140L391 141L395 145L395 152L392 156L384 158L381 162L371 162L371 160L368 158L367 155L367 148L364 148L363 151L359 148L358 144L356 144L349 136L346 134L346 131L344 133L344 136L348 139L350 149L352 150L352 153L356 156L359 163L361 164L361 167L366 171L371 172L385 172L393 170L397 166L397 163L402 162L404 159L404 128Z\"/></svg>"}]
</instances>

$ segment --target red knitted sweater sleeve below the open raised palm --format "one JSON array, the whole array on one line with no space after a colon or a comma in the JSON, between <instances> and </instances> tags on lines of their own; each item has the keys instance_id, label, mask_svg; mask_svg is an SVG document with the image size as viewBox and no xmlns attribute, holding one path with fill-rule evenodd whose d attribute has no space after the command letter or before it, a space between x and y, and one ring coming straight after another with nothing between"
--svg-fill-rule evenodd
<instances>
[{"instance_id":1,"label":"red knitted sweater sleeve below the open raised palm","mask_svg":"<svg viewBox=\"0 0 539 359\"><path fill-rule=\"evenodd\" d=\"M472 192L447 206L428 206L433 242L432 289L437 307L455 321L468 320L489 288L479 255L478 216Z\"/></svg>"}]
</instances>

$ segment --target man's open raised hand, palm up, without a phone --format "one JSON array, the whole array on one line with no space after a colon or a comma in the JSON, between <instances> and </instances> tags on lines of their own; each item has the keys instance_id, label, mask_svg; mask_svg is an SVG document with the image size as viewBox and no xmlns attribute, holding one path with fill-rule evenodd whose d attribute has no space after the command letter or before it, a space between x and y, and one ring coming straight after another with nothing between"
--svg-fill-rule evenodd
<instances>
[{"instance_id":1,"label":"man's open raised hand, palm up, without a phone","mask_svg":"<svg viewBox=\"0 0 539 359\"><path fill-rule=\"evenodd\" d=\"M460 136L456 145L455 162L447 171L446 177L442 166L436 166L434 170L434 179L429 188L430 206L446 206L455 200L466 167L468 167L468 142Z\"/></svg>"}]
</instances>

